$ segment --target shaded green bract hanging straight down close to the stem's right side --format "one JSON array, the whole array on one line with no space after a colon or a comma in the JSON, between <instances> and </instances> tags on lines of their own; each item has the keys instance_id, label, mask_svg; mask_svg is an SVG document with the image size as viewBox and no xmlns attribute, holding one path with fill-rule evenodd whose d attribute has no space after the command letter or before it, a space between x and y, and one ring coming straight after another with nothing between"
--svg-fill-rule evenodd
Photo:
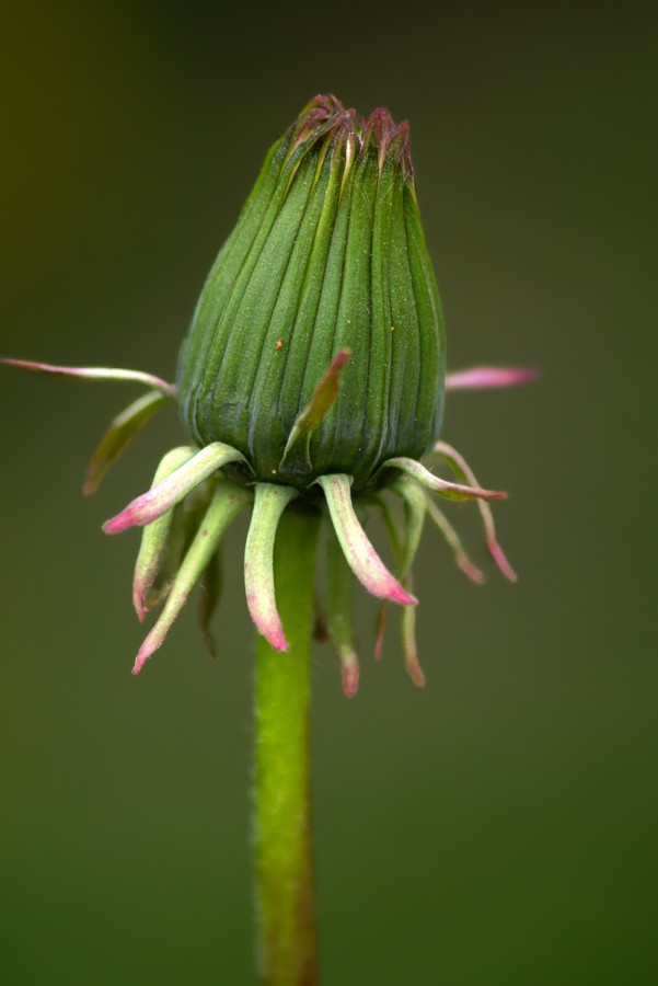
<instances>
[{"instance_id":1,"label":"shaded green bract hanging straight down close to the stem's right side","mask_svg":"<svg viewBox=\"0 0 658 986\"><path fill-rule=\"evenodd\" d=\"M359 687L359 658L354 645L353 576L333 530L326 542L326 629L340 662L340 679L346 698Z\"/></svg>"}]
</instances>

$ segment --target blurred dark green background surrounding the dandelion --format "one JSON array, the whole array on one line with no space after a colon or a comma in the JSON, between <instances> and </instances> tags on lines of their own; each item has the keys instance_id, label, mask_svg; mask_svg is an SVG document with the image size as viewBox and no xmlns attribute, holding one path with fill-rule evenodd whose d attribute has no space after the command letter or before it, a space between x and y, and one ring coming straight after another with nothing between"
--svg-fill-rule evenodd
<instances>
[{"instance_id":1,"label":"blurred dark green background surrounding the dandelion","mask_svg":"<svg viewBox=\"0 0 658 986\"><path fill-rule=\"evenodd\" d=\"M643 10L645 11L643 13ZM634 4L384 14L282 5L4 8L2 354L172 377L266 148L333 91L409 118L449 363L533 364L450 398L516 587L417 572L428 684L395 634L343 698L314 679L323 983L657 981L655 15ZM95 500L85 457L137 391L0 370L0 978L254 982L253 639L233 576L138 679L138 537L102 520L181 433L150 426ZM452 517L483 559L476 512Z\"/></svg>"}]
</instances>

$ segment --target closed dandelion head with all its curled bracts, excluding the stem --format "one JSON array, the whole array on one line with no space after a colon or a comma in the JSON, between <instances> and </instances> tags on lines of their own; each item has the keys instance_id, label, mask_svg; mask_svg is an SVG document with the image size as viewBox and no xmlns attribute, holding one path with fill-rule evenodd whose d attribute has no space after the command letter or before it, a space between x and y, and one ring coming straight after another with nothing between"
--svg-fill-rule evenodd
<instances>
[{"instance_id":1,"label":"closed dandelion head with all its curled bracts, excluding the stem","mask_svg":"<svg viewBox=\"0 0 658 986\"><path fill-rule=\"evenodd\" d=\"M492 368L446 376L445 356L408 126L396 126L385 110L359 122L334 96L316 96L269 151L208 275L175 386L132 370L5 360L147 388L95 449L85 493L97 489L158 410L177 405L189 444L169 451L151 489L103 526L109 535L143 527L132 601L140 620L162 604L135 674L161 646L199 582L211 645L218 553L228 526L247 507L247 607L258 632L286 651L273 551L284 512L303 505L330 520L323 609L345 693L356 692L359 675L353 575L382 600L376 654L389 604L402 607L405 662L412 679L423 684L412 566L426 516L461 571L473 582L484 578L437 496L476 501L492 558L507 578L516 578L489 506L506 494L482 488L460 452L438 440L445 391L508 386L531 376ZM438 460L453 480L431 471ZM389 493L402 503L402 523ZM370 508L384 518L395 574L363 529L362 514Z\"/></svg>"}]
</instances>

